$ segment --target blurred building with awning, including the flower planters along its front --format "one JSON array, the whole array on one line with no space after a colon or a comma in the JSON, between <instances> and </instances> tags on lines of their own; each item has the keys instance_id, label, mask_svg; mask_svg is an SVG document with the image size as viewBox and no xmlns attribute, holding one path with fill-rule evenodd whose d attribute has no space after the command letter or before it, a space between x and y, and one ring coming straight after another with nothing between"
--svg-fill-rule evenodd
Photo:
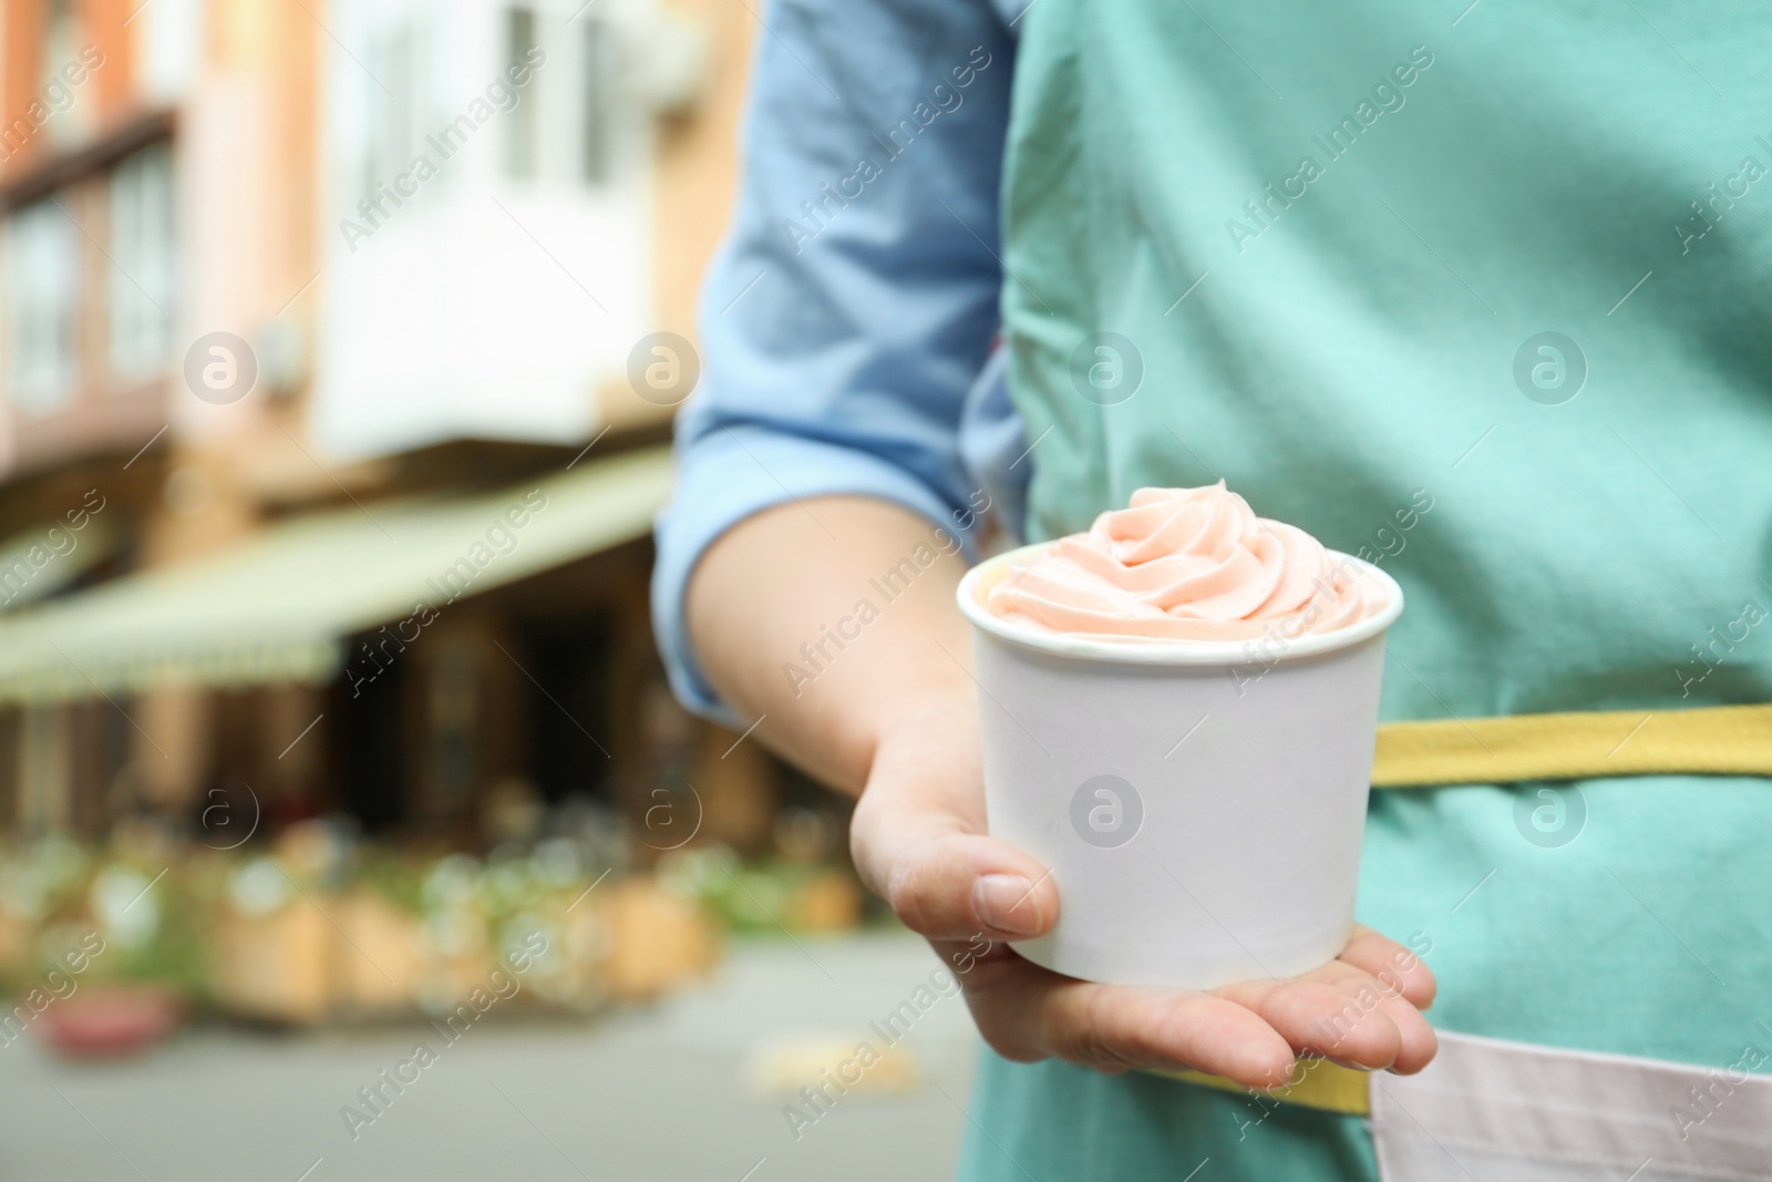
<instances>
[{"instance_id":1,"label":"blurred building with awning, including the flower planters along its front","mask_svg":"<svg viewBox=\"0 0 1772 1182\"><path fill-rule=\"evenodd\" d=\"M835 799L647 615L751 37L0 0L0 1044L583 1012L854 921Z\"/></svg>"}]
</instances>

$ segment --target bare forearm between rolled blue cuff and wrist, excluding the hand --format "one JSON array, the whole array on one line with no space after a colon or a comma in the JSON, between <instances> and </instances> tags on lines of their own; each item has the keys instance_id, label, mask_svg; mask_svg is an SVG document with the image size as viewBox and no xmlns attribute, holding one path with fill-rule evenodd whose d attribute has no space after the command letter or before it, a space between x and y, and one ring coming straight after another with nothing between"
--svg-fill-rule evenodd
<instances>
[{"instance_id":1,"label":"bare forearm between rolled blue cuff and wrist, excluding the hand","mask_svg":"<svg viewBox=\"0 0 1772 1182\"><path fill-rule=\"evenodd\" d=\"M953 604L959 537L861 496L767 509L721 535L688 588L695 654L721 698L787 758L859 792L879 735L971 695Z\"/></svg>"}]
</instances>

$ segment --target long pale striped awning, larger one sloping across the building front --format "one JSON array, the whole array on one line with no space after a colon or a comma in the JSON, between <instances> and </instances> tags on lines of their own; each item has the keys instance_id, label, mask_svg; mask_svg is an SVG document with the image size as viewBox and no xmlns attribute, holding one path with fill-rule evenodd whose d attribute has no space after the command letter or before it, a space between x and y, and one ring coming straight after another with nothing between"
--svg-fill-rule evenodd
<instances>
[{"instance_id":1,"label":"long pale striped awning, larger one sloping across the building front","mask_svg":"<svg viewBox=\"0 0 1772 1182\"><path fill-rule=\"evenodd\" d=\"M0 617L0 702L338 675L344 642L641 537L670 450L583 463L471 498L406 500L282 523Z\"/></svg>"}]
</instances>

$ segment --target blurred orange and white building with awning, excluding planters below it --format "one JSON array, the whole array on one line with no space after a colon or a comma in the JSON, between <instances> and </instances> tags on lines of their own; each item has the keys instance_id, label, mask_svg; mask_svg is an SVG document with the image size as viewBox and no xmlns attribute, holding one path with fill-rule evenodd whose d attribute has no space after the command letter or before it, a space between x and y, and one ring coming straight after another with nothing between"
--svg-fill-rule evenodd
<instances>
[{"instance_id":1,"label":"blurred orange and white building with awning, excluding planters below it","mask_svg":"<svg viewBox=\"0 0 1772 1182\"><path fill-rule=\"evenodd\" d=\"M645 611L751 25L0 0L0 822L767 833Z\"/></svg>"}]
</instances>

